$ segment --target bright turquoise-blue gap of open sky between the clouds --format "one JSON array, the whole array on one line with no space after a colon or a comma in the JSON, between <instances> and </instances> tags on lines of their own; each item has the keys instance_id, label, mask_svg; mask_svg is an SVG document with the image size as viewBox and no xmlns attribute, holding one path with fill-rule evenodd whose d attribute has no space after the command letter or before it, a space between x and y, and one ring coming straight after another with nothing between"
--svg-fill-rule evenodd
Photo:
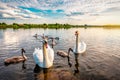
<instances>
[{"instance_id":1,"label":"bright turquoise-blue gap of open sky between the clouds","mask_svg":"<svg viewBox=\"0 0 120 80\"><path fill-rule=\"evenodd\" d=\"M44 18L59 18L60 16L64 16L65 13L63 10L61 9L56 9L56 10L52 10L52 9L37 9L34 7L23 7L23 6L19 6L19 8L21 8L22 10L27 10L29 12L32 12L36 15L40 15Z\"/></svg>"}]
</instances>

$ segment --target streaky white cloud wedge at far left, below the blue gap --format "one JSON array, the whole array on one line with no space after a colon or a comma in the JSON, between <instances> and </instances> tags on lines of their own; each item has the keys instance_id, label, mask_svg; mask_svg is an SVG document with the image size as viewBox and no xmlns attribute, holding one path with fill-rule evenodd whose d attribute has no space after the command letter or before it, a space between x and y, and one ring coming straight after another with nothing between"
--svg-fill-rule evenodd
<instances>
[{"instance_id":1,"label":"streaky white cloud wedge at far left, below the blue gap","mask_svg":"<svg viewBox=\"0 0 120 80\"><path fill-rule=\"evenodd\" d=\"M32 13L29 10L20 9L17 6L8 5L6 3L0 2L0 16L1 19L28 19L28 18L42 18L39 15Z\"/></svg>"}]
</instances>

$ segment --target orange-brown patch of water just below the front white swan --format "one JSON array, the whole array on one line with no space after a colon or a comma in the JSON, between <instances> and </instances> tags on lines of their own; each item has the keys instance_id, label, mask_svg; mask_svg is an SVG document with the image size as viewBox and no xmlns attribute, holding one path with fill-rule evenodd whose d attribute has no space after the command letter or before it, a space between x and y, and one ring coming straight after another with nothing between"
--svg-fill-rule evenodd
<instances>
[{"instance_id":1,"label":"orange-brown patch of water just below the front white swan","mask_svg":"<svg viewBox=\"0 0 120 80\"><path fill-rule=\"evenodd\" d=\"M38 65L34 68L34 80L77 80L68 70L54 69L53 67L40 68Z\"/></svg>"}]
</instances>

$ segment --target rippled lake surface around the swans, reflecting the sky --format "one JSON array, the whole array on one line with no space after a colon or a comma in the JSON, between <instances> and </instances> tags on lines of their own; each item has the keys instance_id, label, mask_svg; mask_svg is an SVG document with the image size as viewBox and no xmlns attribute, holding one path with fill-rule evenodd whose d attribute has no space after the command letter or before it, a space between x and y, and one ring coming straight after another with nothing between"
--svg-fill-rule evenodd
<instances>
[{"instance_id":1,"label":"rippled lake surface around the swans, reflecting the sky","mask_svg":"<svg viewBox=\"0 0 120 80\"><path fill-rule=\"evenodd\" d=\"M72 67L67 58L56 54L57 50L68 51L75 44L74 32L80 32L80 40L87 44L85 53L77 61L70 53ZM59 37L54 46L55 59L50 69L34 72L33 52L41 47L35 34ZM4 65L4 59L21 55L26 50L28 60L24 63ZM0 80L120 80L120 29L71 28L71 29L6 29L0 30Z\"/></svg>"}]
</instances>

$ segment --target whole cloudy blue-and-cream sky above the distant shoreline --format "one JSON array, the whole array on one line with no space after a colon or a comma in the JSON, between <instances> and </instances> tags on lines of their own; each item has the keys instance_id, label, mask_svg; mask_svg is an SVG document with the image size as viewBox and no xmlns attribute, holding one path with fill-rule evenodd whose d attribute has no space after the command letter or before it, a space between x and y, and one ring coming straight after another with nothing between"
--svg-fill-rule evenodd
<instances>
[{"instance_id":1,"label":"whole cloudy blue-and-cream sky above the distant shoreline","mask_svg":"<svg viewBox=\"0 0 120 80\"><path fill-rule=\"evenodd\" d=\"M0 0L0 22L120 24L120 0Z\"/></svg>"}]
</instances>

